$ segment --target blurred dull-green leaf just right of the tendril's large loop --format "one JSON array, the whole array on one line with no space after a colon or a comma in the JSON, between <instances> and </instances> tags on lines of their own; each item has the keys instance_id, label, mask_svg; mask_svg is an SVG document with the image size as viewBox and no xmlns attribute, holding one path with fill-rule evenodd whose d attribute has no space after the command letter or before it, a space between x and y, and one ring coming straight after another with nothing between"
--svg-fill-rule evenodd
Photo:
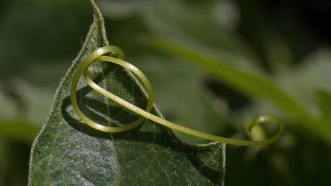
<instances>
[{"instance_id":1,"label":"blurred dull-green leaf just right of the tendril's large loop","mask_svg":"<svg viewBox=\"0 0 331 186\"><path fill-rule=\"evenodd\" d=\"M229 127L226 104L206 90L205 74L196 66L151 55L134 59L134 65L150 79L155 90L154 102L170 121L210 134L220 134ZM190 143L205 142L201 138L177 135Z\"/></svg>"}]
</instances>

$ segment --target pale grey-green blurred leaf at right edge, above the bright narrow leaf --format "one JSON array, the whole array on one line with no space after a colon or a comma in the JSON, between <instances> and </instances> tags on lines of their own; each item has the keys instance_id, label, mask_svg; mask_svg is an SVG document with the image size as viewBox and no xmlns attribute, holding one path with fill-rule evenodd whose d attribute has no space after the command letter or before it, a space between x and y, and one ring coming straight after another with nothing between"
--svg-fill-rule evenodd
<instances>
[{"instance_id":1,"label":"pale grey-green blurred leaf at right edge, above the bright narrow leaf","mask_svg":"<svg viewBox=\"0 0 331 186\"><path fill-rule=\"evenodd\" d=\"M300 103L317 113L314 91L331 92L330 60L330 50L321 48L306 56L295 68L284 70L279 74L278 81Z\"/></svg>"}]
</instances>

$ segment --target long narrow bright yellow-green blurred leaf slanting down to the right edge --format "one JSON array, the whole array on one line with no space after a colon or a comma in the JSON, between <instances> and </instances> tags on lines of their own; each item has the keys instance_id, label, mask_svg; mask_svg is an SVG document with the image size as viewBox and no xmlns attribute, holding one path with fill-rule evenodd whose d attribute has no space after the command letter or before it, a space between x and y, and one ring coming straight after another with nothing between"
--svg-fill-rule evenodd
<instances>
[{"instance_id":1,"label":"long narrow bright yellow-green blurred leaf slanting down to the right edge","mask_svg":"<svg viewBox=\"0 0 331 186\"><path fill-rule=\"evenodd\" d=\"M234 68L224 59L207 48L181 39L169 39L167 37L153 37L150 44L170 54L181 56L184 59L201 66L219 81L235 88L243 94L253 98L265 99L277 105L288 116L305 125L305 128L318 134L328 143L331 143L331 135L328 132L330 126L321 124L317 127L317 118L312 116L301 103L283 91L281 87L261 72L250 72Z\"/></svg>"}]
</instances>

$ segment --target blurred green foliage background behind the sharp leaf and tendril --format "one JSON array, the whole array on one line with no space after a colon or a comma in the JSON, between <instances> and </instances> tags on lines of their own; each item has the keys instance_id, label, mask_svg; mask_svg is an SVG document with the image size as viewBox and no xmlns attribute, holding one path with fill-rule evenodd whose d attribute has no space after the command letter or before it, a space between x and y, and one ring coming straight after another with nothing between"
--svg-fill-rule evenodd
<instances>
[{"instance_id":1,"label":"blurred green foliage background behind the sharp leaf and tendril","mask_svg":"<svg viewBox=\"0 0 331 186\"><path fill-rule=\"evenodd\" d=\"M245 128L255 116L283 119L286 132L277 144L228 145L225 185L331 183L330 2L99 0L97 4L110 43L148 76L155 103L168 120L245 138ZM88 0L0 0L0 185L26 185L30 145L91 22ZM226 65L272 80L316 119L294 117L277 106L277 99L241 91L210 74L203 61L194 65L166 54L149 44L155 35L190 41L207 56L217 54ZM255 131L252 138L268 136L263 131ZM189 143L205 142L179 136Z\"/></svg>"}]
</instances>

